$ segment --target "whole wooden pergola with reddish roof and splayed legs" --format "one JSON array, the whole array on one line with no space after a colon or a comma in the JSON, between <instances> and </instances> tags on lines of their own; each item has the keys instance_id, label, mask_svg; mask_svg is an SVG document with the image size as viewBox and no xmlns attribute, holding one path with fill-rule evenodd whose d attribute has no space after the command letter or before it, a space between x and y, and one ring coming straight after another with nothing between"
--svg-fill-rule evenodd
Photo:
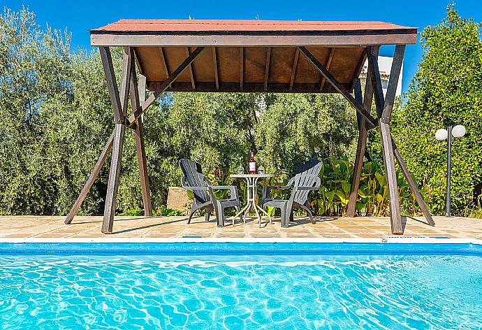
<instances>
[{"instance_id":1,"label":"whole wooden pergola with reddish roof and splayed legs","mask_svg":"<svg viewBox=\"0 0 482 330\"><path fill-rule=\"evenodd\" d=\"M302 92L340 93L356 109L360 134L347 216L355 215L367 131L379 127L392 233L403 231L394 159L428 224L433 226L390 135L405 46L416 43L416 32L414 27L384 22L262 20L120 20L91 30L91 44L98 46L101 53L115 129L65 223L72 222L112 150L102 224L103 233L112 233L126 128L132 129L136 137L145 215L152 216L143 113L163 92ZM395 45L385 96L377 62L381 45ZM110 55L110 47L118 46L124 48L119 87ZM366 59L370 78L362 94L358 76ZM152 92L147 99L146 91ZM370 113L373 98L375 117ZM131 114L127 113L129 99Z\"/></svg>"}]
</instances>

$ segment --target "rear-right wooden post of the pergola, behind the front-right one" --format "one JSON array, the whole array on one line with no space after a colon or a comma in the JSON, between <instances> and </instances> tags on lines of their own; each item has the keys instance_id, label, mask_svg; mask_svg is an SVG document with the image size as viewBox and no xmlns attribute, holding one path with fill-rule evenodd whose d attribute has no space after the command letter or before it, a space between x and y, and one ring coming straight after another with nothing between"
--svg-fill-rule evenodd
<instances>
[{"instance_id":1,"label":"rear-right wooden post of the pergola, behind the front-right one","mask_svg":"<svg viewBox=\"0 0 482 330\"><path fill-rule=\"evenodd\" d=\"M372 47L372 53L378 57L379 46ZM367 78L365 80L365 94L363 96L363 106L368 113L372 109L373 88L372 80L370 80L370 64L368 65ZM356 145L355 166L353 168L353 178L351 180L350 196L348 206L346 207L346 216L354 217L356 211L356 197L358 196L358 188L360 187L361 170L363 168L363 158L365 157L365 148L367 146L367 122L365 118L358 119L358 144Z\"/></svg>"}]
</instances>

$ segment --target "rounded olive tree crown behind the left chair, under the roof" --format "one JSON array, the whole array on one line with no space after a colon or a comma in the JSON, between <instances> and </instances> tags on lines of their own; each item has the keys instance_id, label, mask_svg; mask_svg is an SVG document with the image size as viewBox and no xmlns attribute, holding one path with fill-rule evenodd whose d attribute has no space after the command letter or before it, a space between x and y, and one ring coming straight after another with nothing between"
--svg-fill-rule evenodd
<instances>
[{"instance_id":1,"label":"rounded olive tree crown behind the left chair, under the roof","mask_svg":"<svg viewBox=\"0 0 482 330\"><path fill-rule=\"evenodd\" d=\"M191 158L203 165L204 173L217 170L226 180L239 159L256 149L256 110L256 94L176 93L165 109L171 155Z\"/></svg>"}]
</instances>

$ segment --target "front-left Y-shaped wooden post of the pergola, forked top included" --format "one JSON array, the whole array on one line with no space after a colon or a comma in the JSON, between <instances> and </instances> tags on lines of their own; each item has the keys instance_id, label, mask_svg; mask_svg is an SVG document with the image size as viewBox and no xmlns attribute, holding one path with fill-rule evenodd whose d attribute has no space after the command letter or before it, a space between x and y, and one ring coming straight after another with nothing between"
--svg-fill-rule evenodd
<instances>
[{"instance_id":1,"label":"front-left Y-shaped wooden post of the pergola, forked top included","mask_svg":"<svg viewBox=\"0 0 482 330\"><path fill-rule=\"evenodd\" d=\"M123 99L119 96L119 89L117 88L117 82L115 79L114 67L112 66L112 57L110 56L110 50L108 47L99 48L101 52L102 65L105 73L105 80L107 81L110 101L112 103L112 110L114 111L114 138L112 141L112 159L110 162L109 181L107 185L107 194L105 196L105 208L102 222L102 232L105 234L112 233L112 226L115 215L115 205L117 199L117 189L119 187L119 177L121 169L122 159L122 145L124 144L124 132L125 115L124 107L126 107L126 97L129 94L129 76L126 76L126 71L130 71L131 65L122 66L122 83L124 86L121 90L124 92ZM126 59L127 57L127 59ZM124 59L126 62L132 62L130 49L124 50ZM125 62L125 61L124 61ZM123 64L124 64L123 62Z\"/></svg>"}]
</instances>

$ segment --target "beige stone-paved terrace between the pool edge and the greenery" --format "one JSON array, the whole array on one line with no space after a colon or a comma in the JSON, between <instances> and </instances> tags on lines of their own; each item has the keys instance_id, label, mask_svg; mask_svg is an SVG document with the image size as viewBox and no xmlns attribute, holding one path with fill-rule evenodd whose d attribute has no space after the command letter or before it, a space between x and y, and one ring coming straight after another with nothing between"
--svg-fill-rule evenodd
<instances>
[{"instance_id":1,"label":"beige stone-paved terrace between the pool edge and the greenery","mask_svg":"<svg viewBox=\"0 0 482 330\"><path fill-rule=\"evenodd\" d=\"M388 217L317 218L312 224L306 217L295 218L298 224L281 228L279 218L272 224L263 218L261 228L254 218L246 224L226 222L217 228L216 222L205 222L204 217L115 217L114 232L101 233L102 217L75 217L72 224L64 224L65 217L2 216L1 238L383 238L392 236ZM213 217L212 217L213 218ZM425 224L423 217L404 217L403 236L431 236L482 239L482 220L463 217L434 217L435 227Z\"/></svg>"}]
</instances>

